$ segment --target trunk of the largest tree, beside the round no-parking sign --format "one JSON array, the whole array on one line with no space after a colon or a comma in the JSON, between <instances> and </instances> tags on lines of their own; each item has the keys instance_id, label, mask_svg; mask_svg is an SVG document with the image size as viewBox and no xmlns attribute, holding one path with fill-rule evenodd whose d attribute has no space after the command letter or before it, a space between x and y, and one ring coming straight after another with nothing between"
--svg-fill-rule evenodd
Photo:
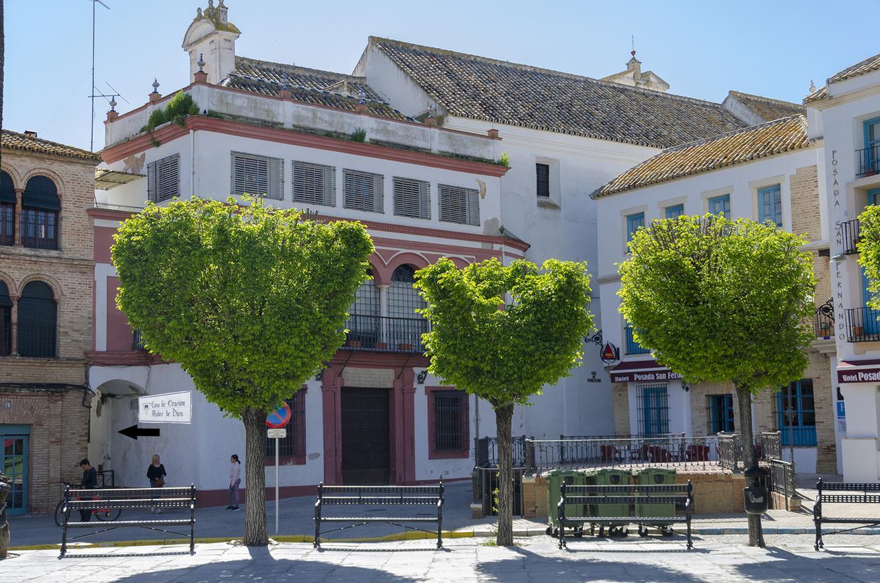
<instances>
[{"instance_id":1,"label":"trunk of the largest tree, beside the round no-parking sign","mask_svg":"<svg viewBox=\"0 0 880 583\"><path fill-rule=\"evenodd\" d=\"M248 408L245 424L245 539L249 547L266 546L266 411Z\"/></svg>"}]
</instances>

